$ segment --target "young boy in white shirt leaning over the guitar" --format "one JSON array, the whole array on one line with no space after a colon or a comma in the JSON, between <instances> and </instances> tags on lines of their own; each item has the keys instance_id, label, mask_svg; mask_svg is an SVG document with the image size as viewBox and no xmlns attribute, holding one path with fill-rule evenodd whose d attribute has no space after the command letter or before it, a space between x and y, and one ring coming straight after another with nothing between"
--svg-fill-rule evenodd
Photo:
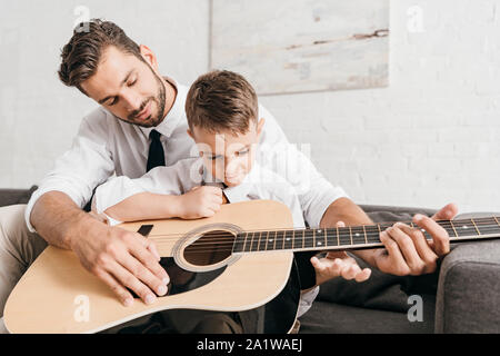
<instances>
[{"instance_id":1,"label":"young boy in white shirt leaning over the guitar","mask_svg":"<svg viewBox=\"0 0 500 356\"><path fill-rule=\"evenodd\" d=\"M294 188L254 160L264 120L258 118L257 95L243 77L230 71L201 76L188 92L186 113L188 134L197 144L199 157L157 167L138 179L109 180L96 190L94 212L110 224L196 219L214 215L224 200L272 199L289 207L296 228L304 227ZM312 258L318 284L336 276L358 281L369 277L369 269L360 270L347 255L339 256L343 259ZM318 290L314 287L303 291L299 316L310 307Z\"/></svg>"}]
</instances>

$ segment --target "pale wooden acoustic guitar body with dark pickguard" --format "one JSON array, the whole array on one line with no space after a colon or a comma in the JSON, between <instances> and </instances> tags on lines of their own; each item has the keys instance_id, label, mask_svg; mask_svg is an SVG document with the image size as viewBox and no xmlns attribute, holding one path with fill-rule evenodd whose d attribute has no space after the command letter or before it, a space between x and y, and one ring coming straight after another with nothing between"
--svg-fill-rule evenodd
<instances>
[{"instance_id":1,"label":"pale wooden acoustic guitar body with dark pickguard","mask_svg":"<svg viewBox=\"0 0 500 356\"><path fill-rule=\"evenodd\" d=\"M10 333L98 333L169 309L242 312L263 308L263 332L291 329L300 298L292 251L231 254L241 230L293 226L284 205L252 200L223 205L198 220L150 220L122 224L149 227L161 265L170 276L169 293L152 305L136 299L124 307L69 250L49 246L12 290L4 309Z\"/></svg>"}]
</instances>

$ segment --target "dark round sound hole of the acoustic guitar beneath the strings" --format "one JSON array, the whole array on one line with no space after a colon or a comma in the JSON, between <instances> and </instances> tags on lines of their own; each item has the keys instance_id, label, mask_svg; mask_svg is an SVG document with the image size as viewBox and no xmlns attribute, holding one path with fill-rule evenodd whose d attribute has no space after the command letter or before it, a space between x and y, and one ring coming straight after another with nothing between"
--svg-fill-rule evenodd
<instances>
[{"instance_id":1,"label":"dark round sound hole of the acoustic guitar beneath the strings","mask_svg":"<svg viewBox=\"0 0 500 356\"><path fill-rule=\"evenodd\" d=\"M224 230L204 233L184 249L186 260L194 266L209 266L231 256L234 235Z\"/></svg>"}]
</instances>

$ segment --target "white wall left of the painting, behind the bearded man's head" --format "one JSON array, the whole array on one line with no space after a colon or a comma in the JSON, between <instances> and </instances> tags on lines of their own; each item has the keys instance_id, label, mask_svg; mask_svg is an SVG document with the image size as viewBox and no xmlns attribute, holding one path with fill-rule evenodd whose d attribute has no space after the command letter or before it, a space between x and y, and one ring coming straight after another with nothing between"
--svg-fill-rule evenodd
<instances>
[{"instance_id":1,"label":"white wall left of the painting, behind the bearded man's head","mask_svg":"<svg viewBox=\"0 0 500 356\"><path fill-rule=\"evenodd\" d=\"M58 78L72 27L90 18L120 24L158 56L162 71L191 82L208 69L206 0L2 1L0 11L0 187L30 187L64 152L96 103Z\"/></svg>"}]
</instances>

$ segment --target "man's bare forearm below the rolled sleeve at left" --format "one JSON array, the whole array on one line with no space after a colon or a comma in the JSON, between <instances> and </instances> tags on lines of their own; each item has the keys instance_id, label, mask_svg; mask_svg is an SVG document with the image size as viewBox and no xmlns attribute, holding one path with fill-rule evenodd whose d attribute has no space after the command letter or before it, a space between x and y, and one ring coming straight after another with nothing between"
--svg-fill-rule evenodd
<instances>
[{"instance_id":1,"label":"man's bare forearm below the rolled sleeve at left","mask_svg":"<svg viewBox=\"0 0 500 356\"><path fill-rule=\"evenodd\" d=\"M68 195L48 191L34 204L30 221L49 245L71 249L71 238L78 236L86 221L93 220Z\"/></svg>"}]
</instances>

